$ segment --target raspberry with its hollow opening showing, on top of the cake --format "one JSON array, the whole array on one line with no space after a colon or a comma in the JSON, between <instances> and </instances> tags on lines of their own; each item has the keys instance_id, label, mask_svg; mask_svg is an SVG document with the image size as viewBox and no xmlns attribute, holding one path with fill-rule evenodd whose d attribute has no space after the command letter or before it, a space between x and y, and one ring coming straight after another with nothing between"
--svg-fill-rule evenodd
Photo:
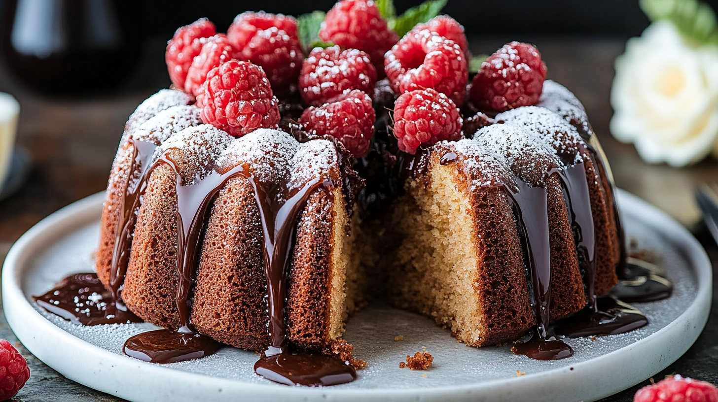
<instances>
[{"instance_id":1,"label":"raspberry with its hollow opening showing, on top of the cake","mask_svg":"<svg viewBox=\"0 0 718 402\"><path fill-rule=\"evenodd\" d=\"M409 32L386 53L384 63L394 92L434 88L457 106L464 104L469 79L467 61L451 39L428 29Z\"/></svg>"}]
</instances>

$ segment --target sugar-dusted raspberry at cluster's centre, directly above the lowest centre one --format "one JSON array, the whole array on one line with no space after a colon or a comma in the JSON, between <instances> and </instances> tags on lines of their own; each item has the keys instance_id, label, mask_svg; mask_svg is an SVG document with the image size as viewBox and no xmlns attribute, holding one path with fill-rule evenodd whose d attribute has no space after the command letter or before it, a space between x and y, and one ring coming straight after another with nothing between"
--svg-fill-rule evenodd
<instances>
[{"instance_id":1,"label":"sugar-dusted raspberry at cluster's centre, directly above the lowest centre one","mask_svg":"<svg viewBox=\"0 0 718 402\"><path fill-rule=\"evenodd\" d=\"M338 46L317 47L304 60L299 90L309 105L321 106L345 90L373 93L376 69L369 55L361 50L342 50Z\"/></svg>"}]
</instances>

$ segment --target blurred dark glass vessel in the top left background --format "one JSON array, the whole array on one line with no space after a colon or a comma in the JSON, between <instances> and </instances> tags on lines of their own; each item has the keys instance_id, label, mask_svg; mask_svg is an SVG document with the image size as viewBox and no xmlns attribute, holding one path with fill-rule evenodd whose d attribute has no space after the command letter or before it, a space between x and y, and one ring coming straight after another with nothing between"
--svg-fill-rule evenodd
<instances>
[{"instance_id":1,"label":"blurred dark glass vessel in the top left background","mask_svg":"<svg viewBox=\"0 0 718 402\"><path fill-rule=\"evenodd\" d=\"M4 3L2 58L33 90L71 96L116 88L136 65L143 26L138 1Z\"/></svg>"}]
</instances>

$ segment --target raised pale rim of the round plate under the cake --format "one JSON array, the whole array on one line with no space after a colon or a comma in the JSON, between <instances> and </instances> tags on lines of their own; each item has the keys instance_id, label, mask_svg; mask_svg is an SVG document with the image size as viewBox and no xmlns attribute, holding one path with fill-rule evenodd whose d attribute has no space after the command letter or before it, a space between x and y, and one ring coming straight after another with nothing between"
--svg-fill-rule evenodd
<instances>
[{"instance_id":1,"label":"raised pale rim of the round plate under the cake","mask_svg":"<svg viewBox=\"0 0 718 402\"><path fill-rule=\"evenodd\" d=\"M610 385L614 386L605 385L603 384L604 381L600 383L597 382L593 384L593 389L590 391L591 394L583 395L582 398L584 401L595 400L610 396L613 393L635 385L635 383L645 380L645 378L663 370L663 368L666 368L673 363L673 361L681 357L681 355L693 345L702 332L709 316L712 300L712 265L706 252L693 235L675 220L668 217L664 212L658 210L658 208L648 204L648 202L641 200L635 195L631 195L624 190L619 190L617 192L619 204L632 205L631 210L640 207L640 220L650 220L653 225L665 228L665 230L663 230L664 232L673 233L671 241L675 242L676 246L681 250L687 251L685 258L690 261L689 269L694 271L699 286L694 301L691 302L689 307L687 307L679 317L676 317L673 322L659 329L657 332L648 335L648 337L623 347L620 350L615 350L614 352L595 357L591 360L577 363L572 365L570 369L569 367L555 368L541 373L530 373L530 375L524 375L522 377L505 378L476 384L446 385L414 389L281 388L281 386L274 384L243 383L237 380L188 373L180 370L164 370L165 368L162 366L117 355L116 353L104 350L101 347L92 345L65 332L64 329L57 327L43 317L42 314L39 314L28 302L22 291L22 273L27 269L27 262L31 259L33 252L42 249L50 239L55 238L58 234L80 228L83 225L97 220L101 206L103 205L104 195L105 192L98 192L95 195L85 197L52 213L34 225L14 243L6 256L2 270L2 298L9 326L25 347L39 360L42 360L42 362L71 380L75 380L78 383L87 385L98 391L126 398L131 401L202 400L210 397L207 393L207 390L210 388L218 390L211 395L211 397L217 401L233 400L233 395L237 395L237 393L255 398L273 396L274 398L278 398L278 400L281 398L281 400L286 401L314 399L346 401L349 398L356 401L376 400L376 398L387 398L392 401L409 401L416 400L416 398L426 401L444 401L447 400L447 398L471 401L503 400L502 398L496 398L495 394L487 392L490 390L495 391L496 389L505 389L506 396L508 396L505 398L506 401L523 401L524 399L522 399L522 397L528 400L529 396L531 400L536 401L536 395L541 395L541 390L549 391L546 389L546 383L550 385L551 378L559 374L568 375L570 373L571 375L577 375L577 379L579 376L585 375L601 375L601 378L615 378L616 381L609 381ZM30 324L41 327L44 335L38 337L36 334L33 334L32 331L27 328ZM47 345L49 342L43 342L43 339L47 337L55 339L53 345L63 344L65 347L57 348ZM665 342L663 338L666 337L676 340L674 348L671 349L669 346L668 352L656 353L656 350L661 350L661 348L665 349L666 345L661 346L661 344ZM682 339L682 342L678 342L679 338ZM686 339L689 339L689 342L686 342ZM73 352L69 352L70 350ZM73 357L77 356L80 350L93 355L93 358L96 360L95 363L97 363L95 367L90 368L89 371L85 370L86 373L82 375L78 375L78 370L73 367L68 367L71 365L67 364L68 361L71 361ZM643 370L641 370L641 373L648 373L649 371L650 373L645 376L633 375L633 382L628 385L626 385L626 380L624 379L625 375L617 375L621 370L613 370L614 373L597 370L597 366L609 364L608 362L610 362L610 365L624 367L626 370L632 368L640 370L637 366L640 365L639 360L642 359L635 358L636 355L653 355L649 368L643 368ZM645 363L643 363L643 365L645 365ZM126 370L131 370L131 372L127 372ZM107 377L103 377L103 375L107 373L111 373L111 381L108 381ZM133 373L134 375L132 375ZM119 389L119 387L115 385L118 383L118 378L133 376L134 378L140 378L145 375L152 375L159 380L159 384L154 384L157 385L157 388L123 387ZM635 378L638 377L640 377L640 380L635 381ZM624 383L618 388L615 387L615 384L621 380L623 380ZM177 389L167 386L172 383L196 384L200 386L184 387L182 392L179 392ZM187 392L186 388L201 388L202 392ZM518 388L531 388L532 391L530 393L526 393L526 391L521 393ZM558 400L557 398L563 397L574 398L571 393L561 394L560 391L565 391L565 388L571 387L563 387L558 390L552 388L551 391L559 392L549 394L551 395L551 399Z\"/></svg>"}]
</instances>

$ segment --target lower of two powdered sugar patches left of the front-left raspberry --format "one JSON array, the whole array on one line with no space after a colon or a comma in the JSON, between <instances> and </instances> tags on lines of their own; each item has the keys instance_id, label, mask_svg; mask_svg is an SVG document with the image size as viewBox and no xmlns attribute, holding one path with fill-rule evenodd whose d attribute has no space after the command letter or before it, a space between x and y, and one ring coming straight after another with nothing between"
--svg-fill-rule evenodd
<instances>
[{"instance_id":1,"label":"lower of two powdered sugar patches left of the front-left raspberry","mask_svg":"<svg viewBox=\"0 0 718 402\"><path fill-rule=\"evenodd\" d=\"M140 141L159 145L173 134L177 134L187 127L197 126L199 124L202 124L200 108L193 105L172 106L142 123L131 133L131 136Z\"/></svg>"}]
</instances>

